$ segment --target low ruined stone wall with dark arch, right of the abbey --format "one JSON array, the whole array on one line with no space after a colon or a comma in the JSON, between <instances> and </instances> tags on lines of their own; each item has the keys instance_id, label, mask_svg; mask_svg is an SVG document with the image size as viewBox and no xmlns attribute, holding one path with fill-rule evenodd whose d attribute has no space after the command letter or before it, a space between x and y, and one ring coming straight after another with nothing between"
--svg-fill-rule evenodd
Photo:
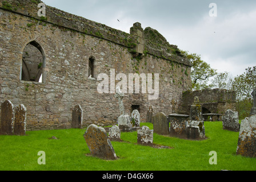
<instances>
[{"instance_id":1,"label":"low ruined stone wall with dark arch, right of the abbey","mask_svg":"<svg viewBox=\"0 0 256 182\"><path fill-rule=\"evenodd\" d=\"M180 111L189 113L194 97L199 98L203 114L216 113L225 114L227 109L236 110L236 93L233 90L225 89L204 89L194 92L186 91L182 94L182 105Z\"/></svg>"}]
</instances>

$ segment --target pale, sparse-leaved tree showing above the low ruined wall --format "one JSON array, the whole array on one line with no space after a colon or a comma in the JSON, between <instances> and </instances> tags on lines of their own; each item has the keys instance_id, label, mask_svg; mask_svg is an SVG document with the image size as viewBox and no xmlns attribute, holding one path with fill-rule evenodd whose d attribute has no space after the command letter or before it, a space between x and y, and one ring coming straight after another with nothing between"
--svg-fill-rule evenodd
<instances>
[{"instance_id":1,"label":"pale, sparse-leaved tree showing above the low ruined wall","mask_svg":"<svg viewBox=\"0 0 256 182\"><path fill-rule=\"evenodd\" d=\"M211 85L213 85L214 88L219 89L227 89L230 90L232 88L233 83L233 77L231 73L224 72L224 73L218 73L215 75L213 80L211 80Z\"/></svg>"}]
</instances>

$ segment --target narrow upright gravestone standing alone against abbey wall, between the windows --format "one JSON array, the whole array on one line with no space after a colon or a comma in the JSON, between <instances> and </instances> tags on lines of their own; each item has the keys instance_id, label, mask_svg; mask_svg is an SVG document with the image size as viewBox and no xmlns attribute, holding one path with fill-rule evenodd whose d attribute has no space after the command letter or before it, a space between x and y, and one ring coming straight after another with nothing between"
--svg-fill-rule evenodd
<instances>
[{"instance_id":1,"label":"narrow upright gravestone standing alone against abbey wall, between the windows","mask_svg":"<svg viewBox=\"0 0 256 182\"><path fill-rule=\"evenodd\" d=\"M83 110L80 105L76 105L72 110L71 128L82 129Z\"/></svg>"}]
</instances>

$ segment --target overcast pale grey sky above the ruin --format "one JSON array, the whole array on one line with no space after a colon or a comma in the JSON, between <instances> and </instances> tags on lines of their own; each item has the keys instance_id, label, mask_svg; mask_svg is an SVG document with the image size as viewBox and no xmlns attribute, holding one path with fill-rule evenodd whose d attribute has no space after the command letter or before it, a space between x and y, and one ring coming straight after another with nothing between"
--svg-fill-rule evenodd
<instances>
[{"instance_id":1,"label":"overcast pale grey sky above the ruin","mask_svg":"<svg viewBox=\"0 0 256 182\"><path fill-rule=\"evenodd\" d=\"M255 0L43 0L46 5L130 32L151 27L167 42L197 53L218 72L241 75L256 66ZM217 16L210 3L217 5ZM46 12L47 13L47 12ZM118 20L119 22L118 22Z\"/></svg>"}]
</instances>

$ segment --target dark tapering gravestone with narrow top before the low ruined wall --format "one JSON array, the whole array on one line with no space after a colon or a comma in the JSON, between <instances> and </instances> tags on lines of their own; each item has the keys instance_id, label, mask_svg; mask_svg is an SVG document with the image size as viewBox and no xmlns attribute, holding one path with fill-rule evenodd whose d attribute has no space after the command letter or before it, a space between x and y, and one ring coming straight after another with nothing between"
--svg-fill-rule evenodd
<instances>
[{"instance_id":1,"label":"dark tapering gravestone with narrow top before the low ruined wall","mask_svg":"<svg viewBox=\"0 0 256 182\"><path fill-rule=\"evenodd\" d=\"M202 107L199 104L199 98L194 98L194 103L190 107L189 120L192 121L203 121Z\"/></svg>"}]
</instances>

